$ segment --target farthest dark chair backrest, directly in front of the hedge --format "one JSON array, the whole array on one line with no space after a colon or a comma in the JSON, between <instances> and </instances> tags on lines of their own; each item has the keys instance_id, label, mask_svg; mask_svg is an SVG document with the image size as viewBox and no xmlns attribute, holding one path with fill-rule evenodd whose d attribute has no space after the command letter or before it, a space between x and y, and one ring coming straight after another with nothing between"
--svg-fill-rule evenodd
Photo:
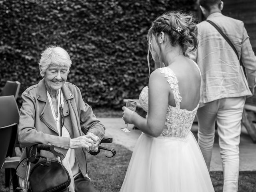
<instances>
[{"instance_id":1,"label":"farthest dark chair backrest, directly in front of the hedge","mask_svg":"<svg viewBox=\"0 0 256 192\"><path fill-rule=\"evenodd\" d=\"M6 84L4 85L2 92L0 93L0 96L13 95L14 98L17 99L19 91L20 91L20 82L7 81Z\"/></svg>"}]
</instances>

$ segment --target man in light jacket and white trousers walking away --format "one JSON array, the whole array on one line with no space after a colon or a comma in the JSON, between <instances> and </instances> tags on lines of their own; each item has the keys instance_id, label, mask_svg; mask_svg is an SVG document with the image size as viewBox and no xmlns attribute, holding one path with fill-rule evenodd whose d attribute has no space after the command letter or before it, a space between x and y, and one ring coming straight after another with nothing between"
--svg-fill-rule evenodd
<instances>
[{"instance_id":1,"label":"man in light jacket and white trousers walking away","mask_svg":"<svg viewBox=\"0 0 256 192\"><path fill-rule=\"evenodd\" d=\"M217 122L223 192L237 192L241 119L245 99L254 94L256 86L256 57L244 23L224 16L221 0L199 0L199 5L205 18L214 22L234 44L246 69L247 79L236 53L216 28L206 21L197 25L198 49L189 56L202 73L198 144L210 170Z\"/></svg>"}]
</instances>

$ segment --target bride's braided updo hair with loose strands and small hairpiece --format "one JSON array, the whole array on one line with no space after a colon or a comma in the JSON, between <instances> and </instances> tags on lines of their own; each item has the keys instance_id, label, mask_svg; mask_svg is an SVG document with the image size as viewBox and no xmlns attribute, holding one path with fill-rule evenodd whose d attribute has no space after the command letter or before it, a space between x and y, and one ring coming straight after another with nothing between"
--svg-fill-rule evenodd
<instances>
[{"instance_id":1,"label":"bride's braided updo hair with loose strands and small hairpiece","mask_svg":"<svg viewBox=\"0 0 256 192\"><path fill-rule=\"evenodd\" d=\"M197 27L194 17L179 11L166 12L157 17L148 30L148 64L149 54L152 54L153 51L152 41L158 45L158 50L154 51L156 51L158 59L161 61L160 46L156 39L160 32L168 35L172 46L180 45L183 54L188 48L192 52L198 46Z\"/></svg>"}]
</instances>

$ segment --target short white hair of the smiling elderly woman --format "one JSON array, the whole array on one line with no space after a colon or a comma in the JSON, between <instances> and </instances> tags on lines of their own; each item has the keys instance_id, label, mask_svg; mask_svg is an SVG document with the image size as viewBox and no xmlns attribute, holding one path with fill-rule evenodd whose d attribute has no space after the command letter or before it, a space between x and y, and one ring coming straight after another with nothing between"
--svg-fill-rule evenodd
<instances>
[{"instance_id":1,"label":"short white hair of the smiling elderly woman","mask_svg":"<svg viewBox=\"0 0 256 192\"><path fill-rule=\"evenodd\" d=\"M41 53L39 61L40 72L44 72L50 67L50 65L57 65L61 67L68 67L68 72L72 64L70 56L66 50L60 46L51 45Z\"/></svg>"}]
</instances>

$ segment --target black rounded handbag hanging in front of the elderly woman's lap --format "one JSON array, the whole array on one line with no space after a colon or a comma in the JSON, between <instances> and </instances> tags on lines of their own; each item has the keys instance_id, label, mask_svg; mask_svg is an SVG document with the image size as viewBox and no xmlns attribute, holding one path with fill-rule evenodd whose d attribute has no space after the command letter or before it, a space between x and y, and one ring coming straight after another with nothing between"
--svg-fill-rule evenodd
<instances>
[{"instance_id":1,"label":"black rounded handbag hanging in front of the elderly woman's lap","mask_svg":"<svg viewBox=\"0 0 256 192\"><path fill-rule=\"evenodd\" d=\"M58 161L51 161L50 166L36 164L29 177L32 192L59 192L67 188L70 181L68 171Z\"/></svg>"}]
</instances>

